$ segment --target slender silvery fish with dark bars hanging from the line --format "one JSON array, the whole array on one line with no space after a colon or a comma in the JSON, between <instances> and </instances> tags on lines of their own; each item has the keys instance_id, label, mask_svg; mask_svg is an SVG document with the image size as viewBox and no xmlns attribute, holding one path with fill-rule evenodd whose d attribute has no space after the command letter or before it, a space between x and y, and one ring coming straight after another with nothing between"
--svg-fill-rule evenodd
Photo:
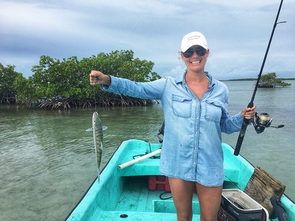
<instances>
[{"instance_id":1,"label":"slender silvery fish with dark bars hanging from the line","mask_svg":"<svg viewBox=\"0 0 295 221\"><path fill-rule=\"evenodd\" d=\"M108 127L102 126L100 118L95 111L92 115L92 128L87 129L86 131L92 131L93 130L93 138L94 138L94 146L92 149L95 149L95 154L96 154L96 171L94 172L97 173L97 178L98 178L98 183L100 181L99 178L99 166L101 162L101 156L102 156L102 150L103 150L103 130L106 130Z\"/></svg>"}]
</instances>

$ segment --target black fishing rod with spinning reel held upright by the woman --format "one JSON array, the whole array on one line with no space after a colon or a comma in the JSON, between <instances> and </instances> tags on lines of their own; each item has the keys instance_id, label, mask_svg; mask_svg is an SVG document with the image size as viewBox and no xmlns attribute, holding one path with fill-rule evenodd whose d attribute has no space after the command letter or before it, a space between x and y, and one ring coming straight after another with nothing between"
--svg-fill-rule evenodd
<instances>
[{"instance_id":1,"label":"black fishing rod with spinning reel held upright by the woman","mask_svg":"<svg viewBox=\"0 0 295 221\"><path fill-rule=\"evenodd\" d=\"M255 97L255 94L256 94L256 91L257 91L257 88L258 88L258 83L259 83L259 80L260 80L260 77L261 77L261 74L262 74L262 70L263 70L264 63L265 63L265 60L266 60L266 56L267 56L267 53L268 53L268 50L269 50L269 46L270 46L271 40L273 38L274 29L276 28L277 24L285 22L285 21L282 21L282 22L277 23L277 19L278 19L279 14L280 14L282 3L283 3L283 0L281 0L281 4L280 4L279 10L277 12L276 21L274 22L274 25L273 25L273 31L272 31L270 39L269 39L269 43L268 43L268 46L267 46L267 49L266 49L266 52L265 52L264 60L262 62L262 66L261 66L261 69L260 69L260 72L259 72L259 75L258 75L258 79L257 79L256 85L255 85L255 89L254 89L254 92L253 92L253 95L252 95L252 99L251 99L250 103L247 106L247 107L250 107L250 108L252 108L254 106L253 105L254 97ZM262 113L262 114L260 114L259 118L257 118L257 112L255 112L256 122L253 119L251 119L251 121L252 121L252 123L254 125L254 128L255 128L255 130L256 130L256 132L258 134L262 133L263 130L265 129L265 127L270 126L270 123L271 123L272 119L269 120L269 116L270 115L267 114L267 113ZM237 144L236 144L236 148L234 149L234 155L235 156L238 156L239 153L240 153L241 145L242 145L242 142L243 142L243 139L244 139L244 136L245 136L246 129L247 129L249 121L250 120L244 118L242 128L241 128L241 131L240 131L240 134L239 134L239 137L238 137L238 141L237 141ZM282 124L282 125L276 126L275 128L280 128L280 127L283 127L283 126L284 125Z\"/></svg>"}]
</instances>

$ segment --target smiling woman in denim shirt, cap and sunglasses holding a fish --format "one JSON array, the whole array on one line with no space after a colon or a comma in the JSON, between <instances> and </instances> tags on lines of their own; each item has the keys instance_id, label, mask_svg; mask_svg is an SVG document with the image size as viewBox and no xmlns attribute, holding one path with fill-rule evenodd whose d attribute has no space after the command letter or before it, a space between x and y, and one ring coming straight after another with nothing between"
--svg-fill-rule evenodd
<instances>
[{"instance_id":1,"label":"smiling woman in denim shirt, cap and sunglasses holding a fish","mask_svg":"<svg viewBox=\"0 0 295 221\"><path fill-rule=\"evenodd\" d=\"M256 108L229 116L226 85L204 72L208 55L203 34L192 32L181 42L181 58L187 71L176 79L137 83L98 71L90 74L91 85L103 84L104 91L161 100L165 136L159 171L169 179L178 221L192 220L194 184L201 221L216 221L225 177L221 132L239 131L244 117L254 118Z\"/></svg>"}]
</instances>

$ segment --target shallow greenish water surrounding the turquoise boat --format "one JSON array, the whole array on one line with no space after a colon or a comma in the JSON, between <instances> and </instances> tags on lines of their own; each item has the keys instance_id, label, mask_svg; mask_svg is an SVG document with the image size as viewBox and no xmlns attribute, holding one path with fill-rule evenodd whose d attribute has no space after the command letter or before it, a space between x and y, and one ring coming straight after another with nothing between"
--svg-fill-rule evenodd
<instances>
[{"instance_id":1,"label":"shallow greenish water surrounding the turquoise boat","mask_svg":"<svg viewBox=\"0 0 295 221\"><path fill-rule=\"evenodd\" d=\"M258 89L254 104L259 113L272 114L272 126L256 134L248 126L240 153L286 187L295 199L295 81L291 88ZM251 81L226 81L230 91L228 110L236 114L248 105L254 88ZM64 220L95 179L92 127L95 108L27 110L0 105L0 220ZM163 109L148 107L97 107L104 130L103 168L123 140L158 143ZM238 133L222 134L235 147Z\"/></svg>"}]
</instances>

